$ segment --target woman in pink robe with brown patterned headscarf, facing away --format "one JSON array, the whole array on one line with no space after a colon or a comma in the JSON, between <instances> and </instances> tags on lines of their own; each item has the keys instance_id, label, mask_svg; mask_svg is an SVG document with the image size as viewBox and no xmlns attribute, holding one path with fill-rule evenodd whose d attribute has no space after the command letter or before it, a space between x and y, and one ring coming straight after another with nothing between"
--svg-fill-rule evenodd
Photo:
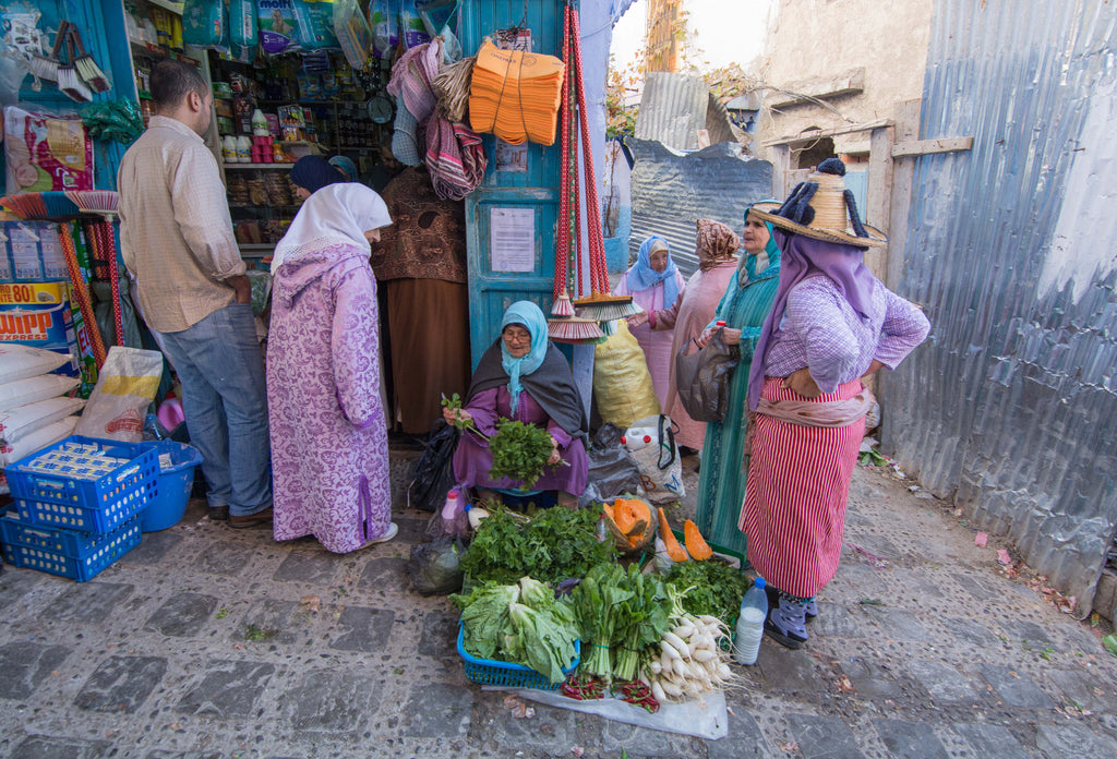
<instances>
[{"instance_id":1,"label":"woman in pink robe with brown patterned headscarf, facing away","mask_svg":"<svg viewBox=\"0 0 1117 759\"><path fill-rule=\"evenodd\" d=\"M674 325L675 335L671 342L670 388L663 413L679 425L675 442L679 445L701 450L706 438L706 423L696 422L687 414L679 401L678 386L675 382L675 356L686 346L690 338L701 335L717 311L717 304L729 287L729 280L737 273L737 248L741 239L736 232L725 224L698 219L698 271L690 275L687 288L679 295L668 313L655 314L656 328L660 325ZM666 328L666 327L665 327ZM695 346L693 350L697 350ZM693 352L691 350L691 352Z\"/></svg>"}]
</instances>

